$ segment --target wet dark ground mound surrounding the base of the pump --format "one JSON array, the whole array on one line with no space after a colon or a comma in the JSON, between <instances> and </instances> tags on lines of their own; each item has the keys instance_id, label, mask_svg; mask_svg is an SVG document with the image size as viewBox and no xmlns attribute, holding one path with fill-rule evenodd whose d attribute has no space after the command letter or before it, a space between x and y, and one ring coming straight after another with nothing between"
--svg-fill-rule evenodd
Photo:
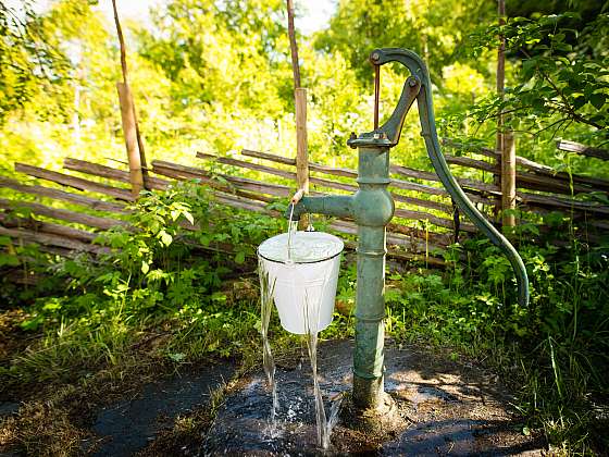
<instances>
[{"instance_id":1,"label":"wet dark ground mound surrounding the base of the pump","mask_svg":"<svg viewBox=\"0 0 609 457\"><path fill-rule=\"evenodd\" d=\"M320 347L319 373L326 411L351 385L351 342ZM524 435L497 376L475 367L395 346L386 350L385 390L397 402L403 430L389 437L356 432L340 422L330 449L316 446L311 372L277 367L277 425L263 373L239 381L204 437L202 455L542 455L539 437Z\"/></svg>"}]
</instances>

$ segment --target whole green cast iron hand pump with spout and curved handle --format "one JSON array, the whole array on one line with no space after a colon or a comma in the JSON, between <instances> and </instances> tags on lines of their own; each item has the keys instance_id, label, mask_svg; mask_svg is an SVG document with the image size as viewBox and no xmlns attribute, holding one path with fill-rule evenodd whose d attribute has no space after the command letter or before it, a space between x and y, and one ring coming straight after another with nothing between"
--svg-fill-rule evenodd
<instances>
[{"instance_id":1,"label":"whole green cast iron hand pump with spout and curved handle","mask_svg":"<svg viewBox=\"0 0 609 457\"><path fill-rule=\"evenodd\" d=\"M359 190L350 196L308 197L293 201L293 219L303 213L351 218L358 225L358 277L356 299L356 348L353 353L353 404L358 408L377 408L383 402L384 371L384 287L385 226L394 215L394 200L387 192L389 150L399 141L406 114L417 100L421 135L432 164L459 209L508 257L518 280L519 302L529 302L529 279L522 259L513 246L473 206L442 155L432 104L432 84L425 64L414 52L399 48L376 49L370 55L375 69L374 131L355 134L347 144L358 148ZM399 62L410 71L398 104L387 122L378 127L380 66ZM289 210L288 210L289 217Z\"/></svg>"}]
</instances>

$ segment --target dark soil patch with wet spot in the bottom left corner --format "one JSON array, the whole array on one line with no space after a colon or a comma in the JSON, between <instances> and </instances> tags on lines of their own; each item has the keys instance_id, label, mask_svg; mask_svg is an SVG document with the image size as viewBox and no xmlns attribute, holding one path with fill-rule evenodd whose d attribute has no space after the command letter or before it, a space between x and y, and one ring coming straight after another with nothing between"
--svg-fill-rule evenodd
<instances>
[{"instance_id":1,"label":"dark soil patch with wet spot in the bottom left corner","mask_svg":"<svg viewBox=\"0 0 609 457\"><path fill-rule=\"evenodd\" d=\"M55 383L54 395L24 391L30 399L0 400L0 455L130 456L148 448L146 455L176 454L166 453L175 440L162 439L171 431L192 441L192 433L174 433L177 422L194 416L192 427L209 423L211 395L232 379L235 362L208 361L177 372L141 358L122 379L100 373L89 385ZM200 442L197 436L190 447L198 449ZM186 448L182 442L176 446Z\"/></svg>"}]
</instances>

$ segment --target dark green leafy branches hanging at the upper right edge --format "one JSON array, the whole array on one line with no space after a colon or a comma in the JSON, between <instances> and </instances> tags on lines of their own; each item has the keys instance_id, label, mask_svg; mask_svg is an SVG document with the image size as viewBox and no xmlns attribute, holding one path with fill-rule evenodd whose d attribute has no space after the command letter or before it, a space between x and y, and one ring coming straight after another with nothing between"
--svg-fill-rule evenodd
<instances>
[{"instance_id":1,"label":"dark green leafy branches hanging at the upper right edge","mask_svg":"<svg viewBox=\"0 0 609 457\"><path fill-rule=\"evenodd\" d=\"M505 26L485 26L471 35L470 52L495 48L522 55L517 81L504 98L493 96L472 111L478 121L508 113L508 125L532 135L566 133L572 124L587 128L587 139L606 140L609 121L609 15L599 14L582 30L572 28L576 13L510 18ZM490 39L489 39L490 37ZM589 128L593 127L591 131ZM581 135L586 138L584 128ZM592 132L592 133L591 133Z\"/></svg>"}]
</instances>

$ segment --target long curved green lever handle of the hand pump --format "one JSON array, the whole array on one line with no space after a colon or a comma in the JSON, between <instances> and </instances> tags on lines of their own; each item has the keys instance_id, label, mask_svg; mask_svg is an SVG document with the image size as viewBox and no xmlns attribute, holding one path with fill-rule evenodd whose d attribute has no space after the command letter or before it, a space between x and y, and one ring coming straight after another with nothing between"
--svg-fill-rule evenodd
<instances>
[{"instance_id":1,"label":"long curved green lever handle of the hand pump","mask_svg":"<svg viewBox=\"0 0 609 457\"><path fill-rule=\"evenodd\" d=\"M450 169L442 153L435 126L434 107L432 103L432 83L425 63L414 52L400 48L376 49L372 51L370 61L373 65L399 62L410 70L411 76L409 79L414 78L420 85L420 89L417 91L417 104L419 106L421 135L425 139L425 147L432 164L444 187L446 187L461 211L463 211L480 231L484 233L493 244L499 247L509 259L518 280L519 302L522 306L526 306L529 304L529 276L522 258L511 243L499 233L470 201L463 189L461 189L457 183L457 180L455 180L455 176L450 173ZM387 135L387 139L391 141L391 146L395 146L399 140L403 119L410 104L412 104L408 90L409 79L407 79L396 110L389 120L380 128L380 131L383 131ZM407 106L406 103L408 102L410 102L410 104ZM368 135L370 134L363 134L362 137Z\"/></svg>"}]
</instances>

